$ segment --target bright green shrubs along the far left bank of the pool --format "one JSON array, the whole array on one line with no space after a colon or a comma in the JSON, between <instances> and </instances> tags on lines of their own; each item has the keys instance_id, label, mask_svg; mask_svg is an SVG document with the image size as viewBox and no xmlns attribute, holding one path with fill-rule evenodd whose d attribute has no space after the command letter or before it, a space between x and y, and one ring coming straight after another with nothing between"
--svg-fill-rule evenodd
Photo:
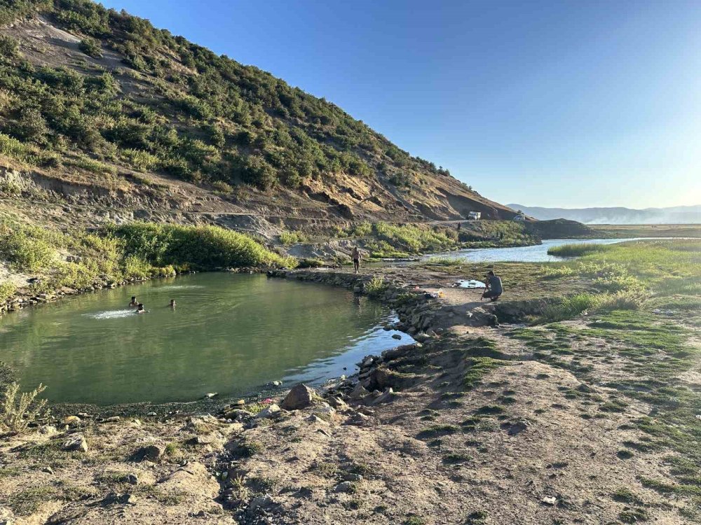
<instances>
[{"instance_id":1,"label":"bright green shrubs along the far left bank of the pool","mask_svg":"<svg viewBox=\"0 0 701 525\"><path fill-rule=\"evenodd\" d=\"M60 253L78 258L64 261ZM251 237L215 226L135 223L92 233L63 233L8 222L0 223L0 262L16 271L41 274L44 279L31 286L32 293L61 286L86 288L98 279L172 275L174 266L215 269L297 263ZM14 293L11 283L0 283L0 300Z\"/></svg>"}]
</instances>

